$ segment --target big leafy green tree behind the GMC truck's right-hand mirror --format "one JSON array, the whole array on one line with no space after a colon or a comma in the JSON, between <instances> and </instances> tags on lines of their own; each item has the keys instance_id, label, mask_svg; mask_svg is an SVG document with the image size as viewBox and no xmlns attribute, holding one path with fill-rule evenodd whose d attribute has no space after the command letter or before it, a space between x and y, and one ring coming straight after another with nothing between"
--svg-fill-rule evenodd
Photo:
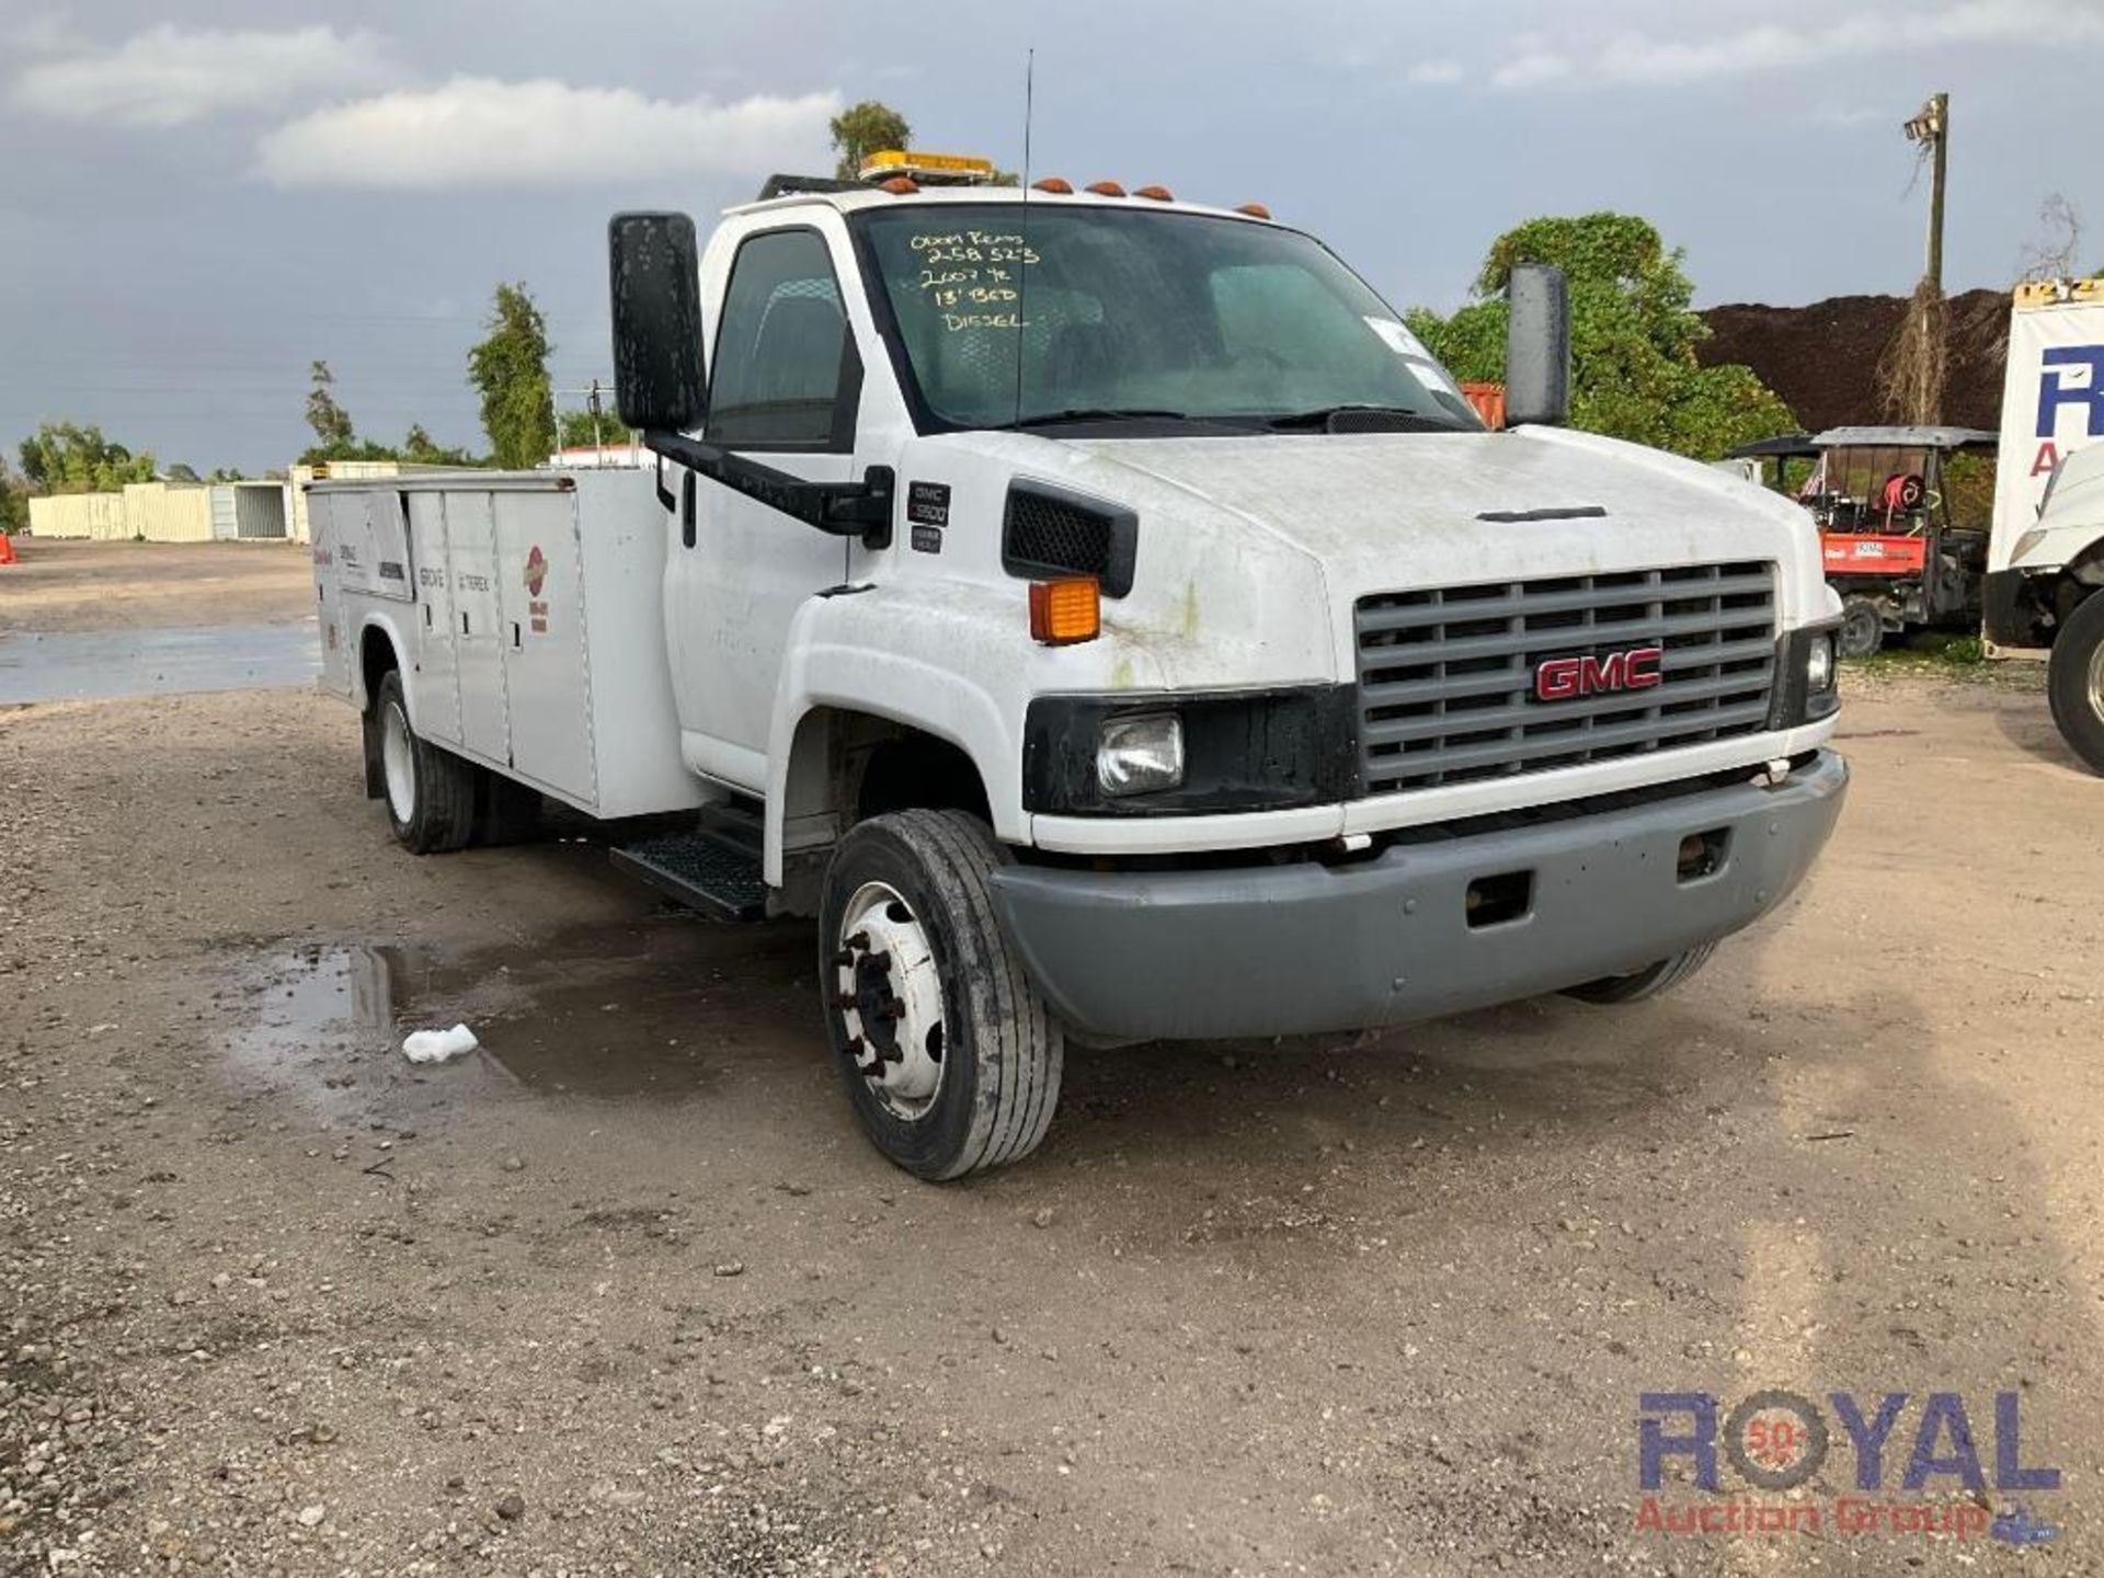
<instances>
[{"instance_id":1,"label":"big leafy green tree behind the GMC truck's right-hand mirror","mask_svg":"<svg viewBox=\"0 0 2104 1578\"><path fill-rule=\"evenodd\" d=\"M1410 326L1460 379L1504 377L1504 288L1515 263L1553 263L1570 280L1572 425L1717 459L1795 427L1791 408L1744 366L1702 366L1685 252L1666 250L1633 215L1530 219L1500 236L1452 318L1416 309Z\"/></svg>"}]
</instances>

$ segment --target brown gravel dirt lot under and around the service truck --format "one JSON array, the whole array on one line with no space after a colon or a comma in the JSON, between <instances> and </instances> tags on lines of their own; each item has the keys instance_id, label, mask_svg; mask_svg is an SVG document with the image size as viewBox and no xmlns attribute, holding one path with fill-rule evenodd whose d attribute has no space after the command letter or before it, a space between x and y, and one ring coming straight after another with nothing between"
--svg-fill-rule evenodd
<instances>
[{"instance_id":1,"label":"brown gravel dirt lot under and around the service truck","mask_svg":"<svg viewBox=\"0 0 2104 1578\"><path fill-rule=\"evenodd\" d=\"M198 585L307 595L29 545L0 629ZM2026 684L1856 690L1826 863L1679 995L1073 1054L947 1189L852 1130L806 928L579 827L400 854L299 690L4 711L0 1570L2104 1570L2104 785ZM1799 1504L2058 1540L1639 1532L1639 1395L1767 1387L1908 1395ZM1929 1393L1992 1479L1999 1391L2060 1490L1902 1492Z\"/></svg>"}]
</instances>

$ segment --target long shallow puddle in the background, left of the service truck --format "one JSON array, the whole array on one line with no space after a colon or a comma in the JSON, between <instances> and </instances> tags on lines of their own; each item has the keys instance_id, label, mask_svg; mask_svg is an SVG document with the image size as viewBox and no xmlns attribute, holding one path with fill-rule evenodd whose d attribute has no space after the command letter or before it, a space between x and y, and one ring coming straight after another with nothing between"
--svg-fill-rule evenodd
<instances>
[{"instance_id":1,"label":"long shallow puddle in the background, left of the service truck","mask_svg":"<svg viewBox=\"0 0 2104 1578\"><path fill-rule=\"evenodd\" d=\"M0 635L0 707L305 686L320 671L311 619Z\"/></svg>"}]
</instances>

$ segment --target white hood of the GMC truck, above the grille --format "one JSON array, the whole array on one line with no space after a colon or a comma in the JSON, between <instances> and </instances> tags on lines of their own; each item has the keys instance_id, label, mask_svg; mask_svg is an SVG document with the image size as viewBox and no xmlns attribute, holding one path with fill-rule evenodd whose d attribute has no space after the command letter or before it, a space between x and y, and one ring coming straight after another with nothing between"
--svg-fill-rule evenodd
<instances>
[{"instance_id":1,"label":"white hood of the GMC truck, above the grille","mask_svg":"<svg viewBox=\"0 0 2104 1578\"><path fill-rule=\"evenodd\" d=\"M1786 627L1835 608L1803 509L1725 471L1589 433L947 433L924 444L985 478L980 507L995 518L993 486L1006 490L1008 478L1138 513L1132 595L1105 608L1100 656L1115 684L1351 677L1353 604L1380 591L1767 562Z\"/></svg>"}]
</instances>

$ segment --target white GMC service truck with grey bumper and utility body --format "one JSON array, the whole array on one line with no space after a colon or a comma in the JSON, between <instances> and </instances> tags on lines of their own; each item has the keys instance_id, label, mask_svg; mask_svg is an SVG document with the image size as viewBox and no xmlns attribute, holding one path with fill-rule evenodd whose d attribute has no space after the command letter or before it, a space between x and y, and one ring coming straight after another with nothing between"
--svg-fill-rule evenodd
<instances>
[{"instance_id":1,"label":"white GMC service truck with grey bumper and utility body","mask_svg":"<svg viewBox=\"0 0 2104 1578\"><path fill-rule=\"evenodd\" d=\"M949 173L949 170L945 170ZM610 225L654 471L318 484L324 684L417 852L543 795L818 919L875 1145L1027 1155L1069 1037L1633 1002L1774 909L1847 785L1795 505L1513 431L1265 210L776 177Z\"/></svg>"}]
</instances>

